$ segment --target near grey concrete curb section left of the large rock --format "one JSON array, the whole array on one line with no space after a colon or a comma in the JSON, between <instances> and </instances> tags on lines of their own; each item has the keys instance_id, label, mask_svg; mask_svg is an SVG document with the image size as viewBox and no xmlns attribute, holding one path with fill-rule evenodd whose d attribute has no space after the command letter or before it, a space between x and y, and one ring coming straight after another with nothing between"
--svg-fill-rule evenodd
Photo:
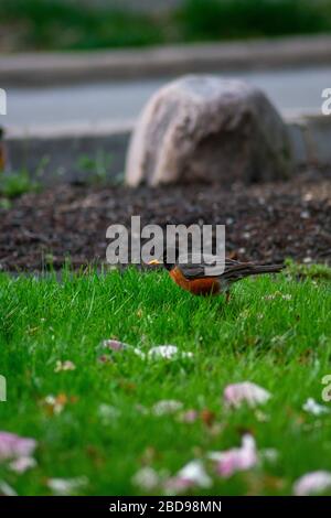
<instances>
[{"instance_id":1,"label":"near grey concrete curb section left of the large rock","mask_svg":"<svg viewBox=\"0 0 331 518\"><path fill-rule=\"evenodd\" d=\"M6 136L9 170L26 170L44 185L116 177L124 172L134 122L67 125L11 130Z\"/></svg>"}]
</instances>

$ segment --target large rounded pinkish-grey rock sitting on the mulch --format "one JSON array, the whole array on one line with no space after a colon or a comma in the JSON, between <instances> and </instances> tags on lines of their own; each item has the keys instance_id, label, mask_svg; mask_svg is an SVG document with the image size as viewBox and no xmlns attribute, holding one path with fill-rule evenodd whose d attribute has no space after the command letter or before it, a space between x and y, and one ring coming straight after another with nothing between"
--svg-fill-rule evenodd
<instances>
[{"instance_id":1,"label":"large rounded pinkish-grey rock sitting on the mulch","mask_svg":"<svg viewBox=\"0 0 331 518\"><path fill-rule=\"evenodd\" d=\"M249 183L290 170L287 128L267 97L241 80L196 75L150 99L130 142L126 181Z\"/></svg>"}]
</instances>

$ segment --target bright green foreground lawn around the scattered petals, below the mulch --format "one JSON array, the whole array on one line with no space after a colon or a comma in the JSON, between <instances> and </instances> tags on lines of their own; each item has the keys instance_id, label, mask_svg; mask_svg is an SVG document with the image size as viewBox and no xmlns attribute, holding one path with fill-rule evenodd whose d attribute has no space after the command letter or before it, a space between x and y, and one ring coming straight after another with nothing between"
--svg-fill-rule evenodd
<instances>
[{"instance_id":1,"label":"bright green foreground lawn around the scattered petals, below the mulch","mask_svg":"<svg viewBox=\"0 0 331 518\"><path fill-rule=\"evenodd\" d=\"M290 494L306 472L331 470L331 413L302 411L308 397L322 403L321 379L331 374L330 288L318 274L266 276L237 283L225 304L222 296L191 296L166 271L64 272L60 282L1 274L1 429L35 438L39 447L36 467L17 475L2 464L0 479L20 495L49 494L47 478L76 476L88 478L83 494L143 494L131 484L143 463L173 474L207 451L238 445L248 430L258 449L277 449L278 460L228 479L213 475L206 493ZM100 363L97 346L111 336L143 352L174 344L194 357L151 363L122 352ZM76 370L54 373L57 360L72 360ZM273 393L260 409L266 419L245 407L226 411L224 387L243 380ZM58 393L70 402L50 416L42 401ZM162 399L209 409L220 427L139 410ZM108 423L103 403L118 410Z\"/></svg>"}]
</instances>

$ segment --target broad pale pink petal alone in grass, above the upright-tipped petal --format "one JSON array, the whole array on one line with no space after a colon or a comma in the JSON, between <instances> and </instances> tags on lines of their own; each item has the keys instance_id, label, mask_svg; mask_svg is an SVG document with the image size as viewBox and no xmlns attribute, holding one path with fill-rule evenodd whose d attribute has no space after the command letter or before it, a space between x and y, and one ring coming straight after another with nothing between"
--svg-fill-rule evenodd
<instances>
[{"instance_id":1,"label":"broad pale pink petal alone in grass, above the upright-tipped petal","mask_svg":"<svg viewBox=\"0 0 331 518\"><path fill-rule=\"evenodd\" d=\"M228 406L238 408L243 402L249 407L256 407L268 401L270 392L250 381L228 385L224 389L224 399Z\"/></svg>"}]
</instances>

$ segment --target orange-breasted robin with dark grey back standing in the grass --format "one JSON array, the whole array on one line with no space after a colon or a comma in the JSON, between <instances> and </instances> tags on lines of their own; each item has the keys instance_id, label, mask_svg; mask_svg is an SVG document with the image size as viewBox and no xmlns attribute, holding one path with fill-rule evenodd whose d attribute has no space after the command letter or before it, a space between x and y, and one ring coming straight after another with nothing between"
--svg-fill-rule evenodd
<instances>
[{"instance_id":1,"label":"orange-breasted robin with dark grey back standing in the grass","mask_svg":"<svg viewBox=\"0 0 331 518\"><path fill-rule=\"evenodd\" d=\"M182 262L178 250L175 250L174 257L177 258L175 262L168 262L166 250L163 261L153 259L149 265L163 265L171 279L183 290L190 291L194 295L224 293L226 300L229 298L229 287L233 282L249 276L277 273L284 269L284 265L254 265L232 259L225 259L224 266L221 259L216 258L215 260L214 257L205 255L203 259L200 258L200 262L196 262L193 253L188 253L185 261ZM213 271L211 271L211 267L213 267Z\"/></svg>"}]
</instances>

